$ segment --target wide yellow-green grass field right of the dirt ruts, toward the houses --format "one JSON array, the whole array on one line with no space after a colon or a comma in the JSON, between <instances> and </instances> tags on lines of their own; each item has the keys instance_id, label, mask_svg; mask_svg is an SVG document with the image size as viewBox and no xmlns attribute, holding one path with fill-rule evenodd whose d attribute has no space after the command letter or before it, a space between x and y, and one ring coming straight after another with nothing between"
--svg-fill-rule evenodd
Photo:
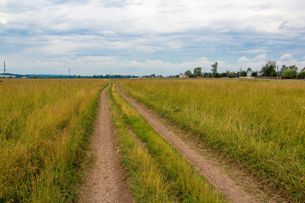
<instances>
[{"instance_id":1,"label":"wide yellow-green grass field right of the dirt ruts, toward the houses","mask_svg":"<svg viewBox=\"0 0 305 203\"><path fill-rule=\"evenodd\" d=\"M117 80L295 202L305 201L305 82Z\"/></svg>"}]
</instances>

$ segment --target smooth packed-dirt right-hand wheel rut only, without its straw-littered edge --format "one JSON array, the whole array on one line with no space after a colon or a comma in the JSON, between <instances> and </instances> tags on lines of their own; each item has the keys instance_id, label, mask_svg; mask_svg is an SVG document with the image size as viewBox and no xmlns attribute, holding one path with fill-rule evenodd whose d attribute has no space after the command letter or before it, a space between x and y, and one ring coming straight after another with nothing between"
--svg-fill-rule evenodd
<instances>
[{"instance_id":1,"label":"smooth packed-dirt right-hand wheel rut only, without its straw-littered edge","mask_svg":"<svg viewBox=\"0 0 305 203\"><path fill-rule=\"evenodd\" d=\"M117 86L118 87L118 86ZM199 154L191 146L185 143L181 138L174 135L173 132L167 130L167 128L157 121L152 115L147 113L138 102L130 97L125 96L117 88L117 92L131 104L148 122L152 125L155 130L166 138L172 145L174 145L188 160L190 160L197 170L204 175L210 183L212 183L219 191L222 191L228 199L233 203L254 203L254 202L276 202L274 200L264 201L258 199L256 196L249 194L242 187L236 185L227 174L221 173L220 168L216 167L215 164L211 163L205 156ZM147 108L147 107L146 107Z\"/></svg>"}]
</instances>

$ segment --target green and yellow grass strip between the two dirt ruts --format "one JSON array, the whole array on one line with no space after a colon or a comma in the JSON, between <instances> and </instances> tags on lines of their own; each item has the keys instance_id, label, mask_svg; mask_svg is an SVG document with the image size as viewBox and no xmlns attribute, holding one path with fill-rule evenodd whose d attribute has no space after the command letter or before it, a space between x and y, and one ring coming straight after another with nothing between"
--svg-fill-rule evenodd
<instances>
[{"instance_id":1,"label":"green and yellow grass strip between the two dirt ruts","mask_svg":"<svg viewBox=\"0 0 305 203\"><path fill-rule=\"evenodd\" d=\"M110 106L136 202L228 202L115 90ZM127 125L145 143L139 144Z\"/></svg>"}]
</instances>

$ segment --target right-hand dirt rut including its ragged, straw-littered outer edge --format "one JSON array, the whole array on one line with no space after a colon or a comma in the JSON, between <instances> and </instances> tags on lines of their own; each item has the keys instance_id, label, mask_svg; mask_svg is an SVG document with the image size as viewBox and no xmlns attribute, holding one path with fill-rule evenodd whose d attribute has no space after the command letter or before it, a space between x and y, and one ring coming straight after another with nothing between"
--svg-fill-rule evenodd
<instances>
[{"instance_id":1,"label":"right-hand dirt rut including its ragged, straw-littered outer edge","mask_svg":"<svg viewBox=\"0 0 305 203\"><path fill-rule=\"evenodd\" d=\"M118 86L117 86L118 87ZM162 118L151 109L137 102L136 100L125 96L117 89L118 93L124 97L138 112L149 122L155 130L174 145L195 167L201 172L219 191L222 191L228 199L234 203L248 202L283 202L284 200L278 195L269 195L268 191L257 188L260 184L249 183L241 184L241 180L245 180L247 176L241 178L241 173L236 173L229 169L229 176L224 173L228 170L228 166L219 163L217 159L206 156L206 149L202 146L198 147L198 143L184 141L178 135L175 135L168 129L168 126L162 124ZM224 167L225 166L225 167ZM234 168L234 167L233 167ZM234 179L231 177L234 176ZM239 176L239 177L237 177ZM251 181L250 181L251 182ZM245 188L246 186L246 188ZM249 189L250 188L250 189ZM254 188L254 189L253 189ZM257 194L259 193L259 194ZM286 200L287 201L287 200Z\"/></svg>"}]
</instances>

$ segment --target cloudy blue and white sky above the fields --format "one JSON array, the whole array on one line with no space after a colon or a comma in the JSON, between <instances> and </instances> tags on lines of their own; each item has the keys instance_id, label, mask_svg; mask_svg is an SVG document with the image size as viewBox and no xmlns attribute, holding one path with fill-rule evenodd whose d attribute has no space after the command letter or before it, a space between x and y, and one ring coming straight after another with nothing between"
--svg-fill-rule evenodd
<instances>
[{"instance_id":1,"label":"cloudy blue and white sky above the fields","mask_svg":"<svg viewBox=\"0 0 305 203\"><path fill-rule=\"evenodd\" d=\"M300 71L304 10L304 0L0 0L0 70L166 76L272 60Z\"/></svg>"}]
</instances>

